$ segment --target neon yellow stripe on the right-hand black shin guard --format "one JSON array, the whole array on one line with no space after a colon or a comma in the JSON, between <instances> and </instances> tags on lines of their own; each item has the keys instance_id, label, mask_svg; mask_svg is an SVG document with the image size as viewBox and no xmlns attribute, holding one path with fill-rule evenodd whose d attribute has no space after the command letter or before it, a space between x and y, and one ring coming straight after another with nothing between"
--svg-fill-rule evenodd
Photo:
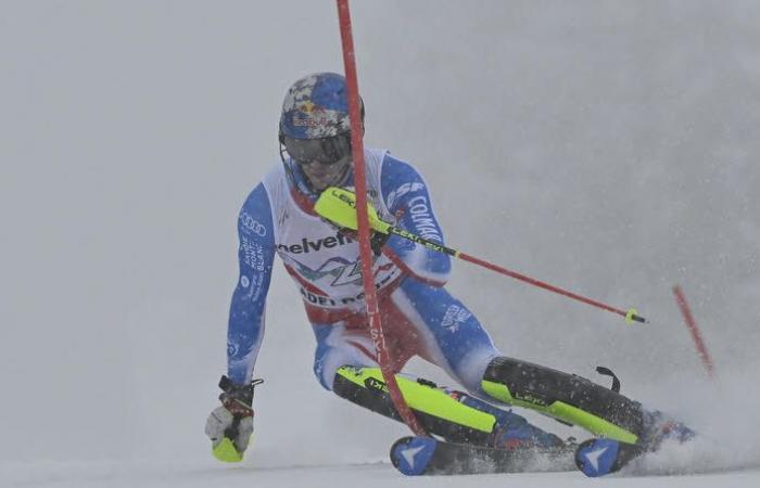
<instances>
[{"instance_id":1,"label":"neon yellow stripe on the right-hand black shin guard","mask_svg":"<svg viewBox=\"0 0 760 488\"><path fill-rule=\"evenodd\" d=\"M620 440L621 442L636 444L638 436L635 434L615 425L613 423L606 421L599 416L588 413L584 410L573 407L571 404L565 403L562 401L555 401L548 406L533 403L530 401L518 400L512 397L509 388L501 383L494 383L489 381L483 381L481 383L483 390L496 398L497 400L504 401L505 403L514 404L516 407L523 407L527 409L535 410L545 415L558 419L563 422L568 422L573 425L585 428L586 431L595 434L597 436L607 437L610 439Z\"/></svg>"}]
</instances>

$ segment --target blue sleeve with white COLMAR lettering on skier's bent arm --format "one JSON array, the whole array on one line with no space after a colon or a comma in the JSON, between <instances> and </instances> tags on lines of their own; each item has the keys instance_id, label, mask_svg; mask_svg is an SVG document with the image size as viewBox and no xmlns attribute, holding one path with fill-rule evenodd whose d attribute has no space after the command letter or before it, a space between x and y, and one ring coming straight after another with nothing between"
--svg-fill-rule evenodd
<instances>
[{"instance_id":1,"label":"blue sleeve with white COLMAR lettering on skier's bent arm","mask_svg":"<svg viewBox=\"0 0 760 488\"><path fill-rule=\"evenodd\" d=\"M396 226L430 241L443 244L443 231L438 223L428 185L408 163L390 154L382 162L380 191L388 209L397 219ZM442 286L448 280L451 258L397 235L385 244L387 255L419 280Z\"/></svg>"}]
</instances>

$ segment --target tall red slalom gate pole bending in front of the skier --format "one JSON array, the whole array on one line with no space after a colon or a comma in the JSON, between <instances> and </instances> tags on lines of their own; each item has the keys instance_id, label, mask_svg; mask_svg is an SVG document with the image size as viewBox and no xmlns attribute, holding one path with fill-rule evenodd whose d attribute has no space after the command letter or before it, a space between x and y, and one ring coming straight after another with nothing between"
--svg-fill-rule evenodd
<instances>
[{"instance_id":1,"label":"tall red slalom gate pole bending in front of the skier","mask_svg":"<svg viewBox=\"0 0 760 488\"><path fill-rule=\"evenodd\" d=\"M343 65L345 80L349 88L349 116L351 118L351 146L354 158L354 179L356 180L356 201L358 202L357 223L359 240L359 259L362 261L362 279L364 281L364 295L367 305L367 320L369 332L377 352L378 364L382 377L388 386L388 391L393 400L393 406L418 436L427 435L417 421L417 418L406 404L396 383L395 371L392 369L391 351L385 345L378 299L375 293L375 274L372 273L372 251L369 245L369 218L367 214L367 181L365 180L364 141L362 139L362 115L359 113L359 90L356 76L356 55L354 52L354 39L351 29L351 12L349 0L337 0L338 18L341 28L341 41L343 46Z\"/></svg>"}]
</instances>

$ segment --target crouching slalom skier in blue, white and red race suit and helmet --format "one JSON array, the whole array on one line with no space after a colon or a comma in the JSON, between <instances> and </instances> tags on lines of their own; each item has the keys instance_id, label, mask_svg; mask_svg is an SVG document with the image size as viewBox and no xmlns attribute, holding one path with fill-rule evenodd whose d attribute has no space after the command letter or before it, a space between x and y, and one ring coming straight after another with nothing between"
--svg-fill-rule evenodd
<instances>
[{"instance_id":1,"label":"crouching slalom skier in blue, white and red race suit and helmet","mask_svg":"<svg viewBox=\"0 0 760 488\"><path fill-rule=\"evenodd\" d=\"M313 208L329 187L354 189L346 100L344 78L332 73L308 75L289 88L279 123L281 164L240 211L240 277L229 314L228 371L219 383L221 406L206 423L213 452L223 461L242 460L253 432L253 390L261 381L252 378L275 254L306 308L317 343L314 373L321 386L400 419L383 389L369 336L355 234ZM428 184L415 167L387 150L367 149L365 160L368 201L380 218L443 243ZM639 403L579 376L504 357L474 314L444 287L447 255L380 233L372 234L371 247L394 371L419 356L466 389L398 375L407 403L428 432L498 448L572 447L506 409L518 404L620 440L647 436L651 415ZM567 409L558 412L557 404Z\"/></svg>"}]
</instances>

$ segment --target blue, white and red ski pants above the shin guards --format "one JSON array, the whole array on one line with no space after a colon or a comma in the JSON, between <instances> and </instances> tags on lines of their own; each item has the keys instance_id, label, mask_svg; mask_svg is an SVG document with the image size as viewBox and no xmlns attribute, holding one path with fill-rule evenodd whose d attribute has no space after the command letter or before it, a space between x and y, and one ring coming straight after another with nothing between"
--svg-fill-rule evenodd
<instances>
[{"instance_id":1,"label":"blue, white and red ski pants above the shin guards","mask_svg":"<svg viewBox=\"0 0 760 488\"><path fill-rule=\"evenodd\" d=\"M483 394L483 373L502 354L461 301L443 287L406 278L379 309L395 371L419 356L471 394ZM314 373L325 388L332 389L335 371L342 365L378 365L365 313L312 326L317 339Z\"/></svg>"}]
</instances>

